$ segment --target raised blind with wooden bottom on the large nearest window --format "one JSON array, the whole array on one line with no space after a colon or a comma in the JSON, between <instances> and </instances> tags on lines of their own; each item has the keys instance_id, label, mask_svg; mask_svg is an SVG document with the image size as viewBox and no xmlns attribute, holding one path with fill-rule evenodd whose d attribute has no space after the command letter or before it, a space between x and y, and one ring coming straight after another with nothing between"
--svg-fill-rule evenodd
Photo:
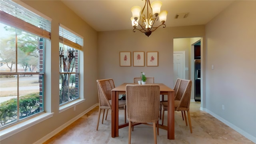
<instances>
[{"instance_id":1,"label":"raised blind with wooden bottom on the large nearest window","mask_svg":"<svg viewBox=\"0 0 256 144\"><path fill-rule=\"evenodd\" d=\"M0 20L10 26L50 39L51 22L11 0L0 0Z\"/></svg>"}]
</instances>

